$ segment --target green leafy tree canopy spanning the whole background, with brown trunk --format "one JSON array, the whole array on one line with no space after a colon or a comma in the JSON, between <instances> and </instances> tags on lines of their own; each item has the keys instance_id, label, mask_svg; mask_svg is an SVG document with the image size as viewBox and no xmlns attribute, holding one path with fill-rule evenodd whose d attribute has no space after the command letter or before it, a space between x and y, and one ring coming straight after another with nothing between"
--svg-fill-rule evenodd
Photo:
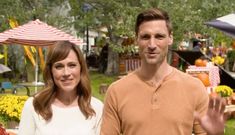
<instances>
[{"instance_id":1,"label":"green leafy tree canopy spanning the whole background, with brown trunk","mask_svg":"<svg viewBox=\"0 0 235 135\"><path fill-rule=\"evenodd\" d=\"M90 6L89 11L84 11L84 4ZM55 7L61 12L56 14ZM66 16L63 15L63 7L70 11ZM169 12L173 21L175 46L184 38L185 32L210 35L216 42L231 41L218 30L204 25L206 21L233 12L235 3L231 0L4 0L0 1L0 31L9 28L10 17L16 18L20 24L36 17L67 29L67 32L74 25L78 36L84 36L86 26L97 32L105 27L110 44L106 73L114 74L118 73L118 53L132 51L132 48L121 46L120 39L135 36L137 13L151 7L160 7Z\"/></svg>"}]
</instances>

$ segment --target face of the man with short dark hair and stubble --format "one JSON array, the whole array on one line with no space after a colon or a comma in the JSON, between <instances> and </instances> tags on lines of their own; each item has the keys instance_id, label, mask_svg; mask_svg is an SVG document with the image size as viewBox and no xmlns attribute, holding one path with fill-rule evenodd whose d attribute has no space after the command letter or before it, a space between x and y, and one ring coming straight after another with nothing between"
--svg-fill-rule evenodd
<instances>
[{"instance_id":1,"label":"face of the man with short dark hair and stubble","mask_svg":"<svg viewBox=\"0 0 235 135\"><path fill-rule=\"evenodd\" d=\"M169 34L164 20L142 23L137 36L142 64L161 65L172 42L173 37Z\"/></svg>"}]
</instances>

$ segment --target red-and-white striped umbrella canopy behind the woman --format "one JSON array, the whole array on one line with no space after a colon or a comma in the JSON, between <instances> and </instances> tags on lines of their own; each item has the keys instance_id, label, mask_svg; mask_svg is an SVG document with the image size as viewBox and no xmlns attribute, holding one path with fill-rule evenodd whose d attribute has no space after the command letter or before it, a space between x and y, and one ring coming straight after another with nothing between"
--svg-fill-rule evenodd
<instances>
[{"instance_id":1,"label":"red-and-white striped umbrella canopy behind the woman","mask_svg":"<svg viewBox=\"0 0 235 135\"><path fill-rule=\"evenodd\" d=\"M77 45L83 42L39 19L0 33L0 43L22 44L31 46L48 46L57 41L70 41Z\"/></svg>"}]
</instances>

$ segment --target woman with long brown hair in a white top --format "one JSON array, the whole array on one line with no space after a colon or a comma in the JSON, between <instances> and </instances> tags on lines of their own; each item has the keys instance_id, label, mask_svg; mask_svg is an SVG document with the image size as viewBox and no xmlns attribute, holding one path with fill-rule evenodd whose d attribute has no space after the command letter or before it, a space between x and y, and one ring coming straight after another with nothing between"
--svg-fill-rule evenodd
<instances>
[{"instance_id":1,"label":"woman with long brown hair in a white top","mask_svg":"<svg viewBox=\"0 0 235 135\"><path fill-rule=\"evenodd\" d=\"M29 98L18 135L98 135L103 104L91 97L87 66L68 41L49 48L45 88Z\"/></svg>"}]
</instances>

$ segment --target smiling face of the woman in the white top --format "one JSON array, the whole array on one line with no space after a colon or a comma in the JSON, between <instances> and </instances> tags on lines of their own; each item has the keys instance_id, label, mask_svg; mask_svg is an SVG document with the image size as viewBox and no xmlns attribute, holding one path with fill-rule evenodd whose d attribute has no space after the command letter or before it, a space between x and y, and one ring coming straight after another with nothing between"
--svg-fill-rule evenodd
<instances>
[{"instance_id":1,"label":"smiling face of the woman in the white top","mask_svg":"<svg viewBox=\"0 0 235 135\"><path fill-rule=\"evenodd\" d=\"M76 91L80 82L81 65L76 53L71 50L68 56L52 65L52 75L55 85L60 91Z\"/></svg>"}]
</instances>

